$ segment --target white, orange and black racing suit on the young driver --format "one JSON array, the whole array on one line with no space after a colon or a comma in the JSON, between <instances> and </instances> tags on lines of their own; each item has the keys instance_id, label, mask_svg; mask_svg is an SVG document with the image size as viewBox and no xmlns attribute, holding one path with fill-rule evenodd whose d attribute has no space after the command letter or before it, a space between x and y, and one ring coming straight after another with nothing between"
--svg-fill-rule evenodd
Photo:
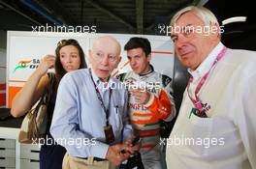
<instances>
[{"instance_id":1,"label":"white, orange and black racing suit on the young driver","mask_svg":"<svg viewBox=\"0 0 256 169\"><path fill-rule=\"evenodd\" d=\"M160 144L160 122L170 122L176 116L171 96L172 79L153 70L139 75L133 71L117 75L126 88L143 88L150 92L145 104L138 104L129 94L129 116L135 132L142 138L140 153L145 169L163 169L165 166L164 144Z\"/></svg>"}]
</instances>

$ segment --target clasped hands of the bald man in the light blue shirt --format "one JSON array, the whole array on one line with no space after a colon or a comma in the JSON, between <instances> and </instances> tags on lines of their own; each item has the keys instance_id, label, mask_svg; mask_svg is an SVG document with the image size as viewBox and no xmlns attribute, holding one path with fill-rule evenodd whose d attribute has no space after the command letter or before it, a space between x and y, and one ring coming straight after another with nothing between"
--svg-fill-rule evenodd
<instances>
[{"instance_id":1,"label":"clasped hands of the bald man in the light blue shirt","mask_svg":"<svg viewBox=\"0 0 256 169\"><path fill-rule=\"evenodd\" d=\"M139 150L139 146L131 147L126 144L116 144L109 147L107 153L107 159L112 162L113 165L118 166L124 160L135 154Z\"/></svg>"}]
</instances>

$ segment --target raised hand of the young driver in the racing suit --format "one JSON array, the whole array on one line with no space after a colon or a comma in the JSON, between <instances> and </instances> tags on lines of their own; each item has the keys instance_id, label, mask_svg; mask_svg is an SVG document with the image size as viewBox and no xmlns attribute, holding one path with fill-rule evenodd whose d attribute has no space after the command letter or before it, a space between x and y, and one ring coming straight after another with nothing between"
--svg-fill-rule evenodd
<instances>
[{"instance_id":1,"label":"raised hand of the young driver in the racing suit","mask_svg":"<svg viewBox=\"0 0 256 169\"><path fill-rule=\"evenodd\" d=\"M150 99L150 93L142 89L131 89L130 93L139 104L144 104Z\"/></svg>"}]
</instances>

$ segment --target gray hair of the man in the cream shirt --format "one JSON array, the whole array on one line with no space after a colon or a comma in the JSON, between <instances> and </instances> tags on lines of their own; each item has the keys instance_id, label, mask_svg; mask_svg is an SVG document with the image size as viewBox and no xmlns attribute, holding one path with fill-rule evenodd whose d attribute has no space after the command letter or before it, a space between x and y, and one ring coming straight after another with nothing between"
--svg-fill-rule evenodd
<instances>
[{"instance_id":1,"label":"gray hair of the man in the cream shirt","mask_svg":"<svg viewBox=\"0 0 256 169\"><path fill-rule=\"evenodd\" d=\"M196 7L196 6L188 6L180 11L178 11L173 18L171 19L170 26L174 27L176 24L177 19L185 13L192 12L199 16L202 21L205 23L206 26L210 26L212 24L216 24L219 26L218 20L214 14L212 14L207 8L204 7Z\"/></svg>"}]
</instances>

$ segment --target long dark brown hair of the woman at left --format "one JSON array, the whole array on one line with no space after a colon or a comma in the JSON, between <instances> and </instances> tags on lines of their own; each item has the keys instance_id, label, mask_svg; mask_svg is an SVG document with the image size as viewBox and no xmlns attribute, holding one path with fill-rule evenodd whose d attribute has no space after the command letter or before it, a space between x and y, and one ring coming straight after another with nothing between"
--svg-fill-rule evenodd
<instances>
[{"instance_id":1,"label":"long dark brown hair of the woman at left","mask_svg":"<svg viewBox=\"0 0 256 169\"><path fill-rule=\"evenodd\" d=\"M73 45L78 48L79 54L80 54L80 68L79 69L87 68L87 64L86 64L85 58L84 58L84 53L83 53L82 48L80 47L80 43L74 39L61 40L60 42L57 43L57 48L55 49L55 54L56 54L55 71L56 71L56 77L57 77L58 81L60 81L60 79L63 77L63 75L65 75L65 73L67 72L66 70L64 70L64 68L60 62L60 54L59 54L59 50L66 45Z\"/></svg>"}]
</instances>

